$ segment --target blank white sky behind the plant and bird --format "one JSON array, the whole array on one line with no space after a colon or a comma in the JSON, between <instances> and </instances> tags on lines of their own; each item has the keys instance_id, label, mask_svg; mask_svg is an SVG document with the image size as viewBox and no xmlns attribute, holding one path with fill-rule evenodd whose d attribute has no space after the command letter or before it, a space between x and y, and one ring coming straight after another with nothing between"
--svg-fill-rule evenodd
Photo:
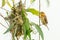
<instances>
[{"instance_id":1,"label":"blank white sky behind the plant and bird","mask_svg":"<svg viewBox=\"0 0 60 40\"><path fill-rule=\"evenodd\" d=\"M60 0L49 0L50 5L47 6L46 0L41 0L41 11L44 11L48 18L48 27L49 30L45 26L41 26L43 32L44 32L44 39L45 40L60 40ZM0 0L1 2L1 0ZM0 3L1 4L1 3ZM26 2L27 7L29 7L29 2L27 0ZM31 7L34 7L38 10L38 0L36 0L35 3L31 5ZM8 7L5 7L8 9ZM2 15L5 15L5 11L2 11L0 9L0 12ZM38 18L35 16L30 15L30 20L38 23ZM4 25L7 25L3 18L0 17L0 22ZM33 20L34 19L34 20ZM6 31L6 29L0 25L0 40L11 40L10 33L3 34ZM33 35L33 38L35 40L38 40L38 34ZM21 39L22 40L22 39Z\"/></svg>"}]
</instances>

